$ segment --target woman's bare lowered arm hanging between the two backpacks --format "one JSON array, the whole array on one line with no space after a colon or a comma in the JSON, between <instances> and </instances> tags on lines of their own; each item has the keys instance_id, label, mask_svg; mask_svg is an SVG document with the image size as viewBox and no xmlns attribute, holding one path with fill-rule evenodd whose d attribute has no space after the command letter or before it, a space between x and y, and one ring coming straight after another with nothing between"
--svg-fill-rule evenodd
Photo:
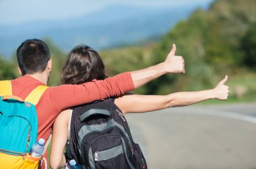
<instances>
[{"instance_id":1,"label":"woman's bare lowered arm hanging between the two backpacks","mask_svg":"<svg viewBox=\"0 0 256 169\"><path fill-rule=\"evenodd\" d=\"M70 109L62 111L53 124L50 155L50 166L53 169L63 167L66 164L63 152L67 143L67 127L69 125L70 113Z\"/></svg>"}]
</instances>

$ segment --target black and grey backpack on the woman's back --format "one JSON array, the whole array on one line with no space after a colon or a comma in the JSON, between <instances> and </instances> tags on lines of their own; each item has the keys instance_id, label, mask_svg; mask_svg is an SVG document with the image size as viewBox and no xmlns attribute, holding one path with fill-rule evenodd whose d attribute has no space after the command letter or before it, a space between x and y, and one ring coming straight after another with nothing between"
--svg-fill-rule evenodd
<instances>
[{"instance_id":1,"label":"black and grey backpack on the woman's back","mask_svg":"<svg viewBox=\"0 0 256 169\"><path fill-rule=\"evenodd\" d=\"M66 157L84 168L147 168L138 144L133 142L128 123L115 105L106 99L75 107L71 116L71 142Z\"/></svg>"}]
</instances>

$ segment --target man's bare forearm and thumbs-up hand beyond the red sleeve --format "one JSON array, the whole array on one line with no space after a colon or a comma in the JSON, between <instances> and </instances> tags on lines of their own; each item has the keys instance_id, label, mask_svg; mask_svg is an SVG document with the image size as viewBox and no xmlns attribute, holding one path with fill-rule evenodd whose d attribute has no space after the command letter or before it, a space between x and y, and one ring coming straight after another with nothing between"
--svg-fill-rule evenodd
<instances>
[{"instance_id":1,"label":"man's bare forearm and thumbs-up hand beyond the red sleeve","mask_svg":"<svg viewBox=\"0 0 256 169\"><path fill-rule=\"evenodd\" d=\"M134 87L141 87L143 84L158 78L166 73L185 73L185 61L182 56L175 56L176 46L167 55L166 60L160 64L131 72Z\"/></svg>"}]
</instances>

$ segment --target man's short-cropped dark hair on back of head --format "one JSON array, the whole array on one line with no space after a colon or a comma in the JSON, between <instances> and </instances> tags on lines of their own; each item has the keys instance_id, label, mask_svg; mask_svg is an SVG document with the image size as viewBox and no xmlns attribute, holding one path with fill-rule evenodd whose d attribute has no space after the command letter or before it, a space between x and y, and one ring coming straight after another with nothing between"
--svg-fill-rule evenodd
<instances>
[{"instance_id":1,"label":"man's short-cropped dark hair on back of head","mask_svg":"<svg viewBox=\"0 0 256 169\"><path fill-rule=\"evenodd\" d=\"M17 50L17 59L22 75L43 72L50 60L50 51L42 40L26 40Z\"/></svg>"}]
</instances>

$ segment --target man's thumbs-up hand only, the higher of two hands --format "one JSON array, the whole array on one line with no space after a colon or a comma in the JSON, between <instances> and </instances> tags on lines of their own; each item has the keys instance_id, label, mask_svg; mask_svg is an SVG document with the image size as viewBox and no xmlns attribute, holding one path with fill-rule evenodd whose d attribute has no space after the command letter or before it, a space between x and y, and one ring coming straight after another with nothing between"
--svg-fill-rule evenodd
<instances>
[{"instance_id":1,"label":"man's thumbs-up hand only, the higher of two hands","mask_svg":"<svg viewBox=\"0 0 256 169\"><path fill-rule=\"evenodd\" d=\"M183 73L185 74L185 61L182 56L175 56L176 46L172 44L172 50L167 55L164 61L164 68L168 73Z\"/></svg>"}]
</instances>

